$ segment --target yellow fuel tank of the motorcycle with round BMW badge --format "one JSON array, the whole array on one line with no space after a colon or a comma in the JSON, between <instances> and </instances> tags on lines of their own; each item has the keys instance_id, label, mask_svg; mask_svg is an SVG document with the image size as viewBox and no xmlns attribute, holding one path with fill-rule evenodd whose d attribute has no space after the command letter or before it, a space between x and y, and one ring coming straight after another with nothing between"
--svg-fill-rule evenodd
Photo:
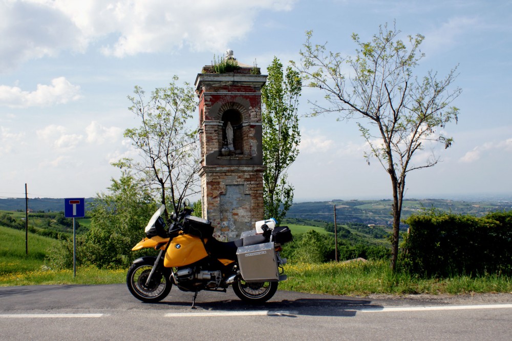
<instances>
[{"instance_id":1,"label":"yellow fuel tank of the motorcycle with round BMW badge","mask_svg":"<svg viewBox=\"0 0 512 341\"><path fill-rule=\"evenodd\" d=\"M165 252L163 266L166 268L185 266L200 261L207 255L199 237L180 235L173 239Z\"/></svg>"}]
</instances>

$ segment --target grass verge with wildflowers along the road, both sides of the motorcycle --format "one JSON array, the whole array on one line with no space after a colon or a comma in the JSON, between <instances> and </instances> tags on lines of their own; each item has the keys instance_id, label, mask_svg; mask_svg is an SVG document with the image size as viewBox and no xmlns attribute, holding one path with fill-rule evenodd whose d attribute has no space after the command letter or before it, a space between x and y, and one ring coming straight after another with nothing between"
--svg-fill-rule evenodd
<instances>
[{"instance_id":1,"label":"grass verge with wildflowers along the road, both sides of the motorcycle","mask_svg":"<svg viewBox=\"0 0 512 341\"><path fill-rule=\"evenodd\" d=\"M331 295L366 296L382 294L464 294L512 293L507 276L486 275L477 278L457 276L449 279L419 279L405 273L391 273L387 262L288 264L288 280L281 290ZM124 283L126 269L106 270L79 267L72 270L40 269L0 275L0 286L42 284L116 284Z\"/></svg>"}]
</instances>

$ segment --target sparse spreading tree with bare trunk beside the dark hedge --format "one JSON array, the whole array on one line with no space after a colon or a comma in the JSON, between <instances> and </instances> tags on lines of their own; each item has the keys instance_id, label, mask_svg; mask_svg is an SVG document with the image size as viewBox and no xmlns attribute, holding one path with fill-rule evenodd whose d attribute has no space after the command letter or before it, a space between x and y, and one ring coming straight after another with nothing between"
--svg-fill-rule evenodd
<instances>
[{"instance_id":1,"label":"sparse spreading tree with bare trunk beside the dark hedge","mask_svg":"<svg viewBox=\"0 0 512 341\"><path fill-rule=\"evenodd\" d=\"M308 86L320 89L326 103L314 103L313 115L337 112L340 119L357 118L362 136L370 152L367 162L375 157L389 174L393 193L393 236L391 268L396 270L402 199L406 176L416 169L432 167L439 162L434 145L450 147L453 139L443 128L457 121L459 110L450 106L461 90L450 90L457 68L446 77L428 72L414 75L423 57L419 47L423 36L398 38L401 32L388 25L380 26L371 41L362 41L357 34L353 57L328 52L326 44L311 42L307 32L301 64L297 68L309 81ZM347 70L345 68L347 67ZM414 158L418 151L432 150L429 158Z\"/></svg>"}]
</instances>

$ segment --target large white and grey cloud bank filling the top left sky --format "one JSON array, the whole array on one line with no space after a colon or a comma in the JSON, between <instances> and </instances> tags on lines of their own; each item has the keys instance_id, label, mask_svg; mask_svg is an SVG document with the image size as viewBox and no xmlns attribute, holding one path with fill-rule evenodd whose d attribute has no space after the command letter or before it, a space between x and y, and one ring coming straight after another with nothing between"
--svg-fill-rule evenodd
<instances>
[{"instance_id":1,"label":"large white and grey cloud bank filling the top left sky","mask_svg":"<svg viewBox=\"0 0 512 341\"><path fill-rule=\"evenodd\" d=\"M0 3L0 70L62 50L124 57L141 52L223 51L261 11L289 11L295 0L11 0Z\"/></svg>"}]
</instances>

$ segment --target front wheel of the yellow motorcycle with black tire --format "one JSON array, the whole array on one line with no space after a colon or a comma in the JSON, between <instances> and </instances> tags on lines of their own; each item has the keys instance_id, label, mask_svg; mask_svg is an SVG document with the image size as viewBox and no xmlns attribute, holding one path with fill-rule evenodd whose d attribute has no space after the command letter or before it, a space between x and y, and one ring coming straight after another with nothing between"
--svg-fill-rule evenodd
<instances>
[{"instance_id":1,"label":"front wheel of the yellow motorcycle with black tire","mask_svg":"<svg viewBox=\"0 0 512 341\"><path fill-rule=\"evenodd\" d=\"M146 286L147 276L153 269L151 260L132 264L126 274L126 285L128 290L136 299L142 302L159 302L169 294L173 283L160 272L155 271L149 286Z\"/></svg>"}]
</instances>

